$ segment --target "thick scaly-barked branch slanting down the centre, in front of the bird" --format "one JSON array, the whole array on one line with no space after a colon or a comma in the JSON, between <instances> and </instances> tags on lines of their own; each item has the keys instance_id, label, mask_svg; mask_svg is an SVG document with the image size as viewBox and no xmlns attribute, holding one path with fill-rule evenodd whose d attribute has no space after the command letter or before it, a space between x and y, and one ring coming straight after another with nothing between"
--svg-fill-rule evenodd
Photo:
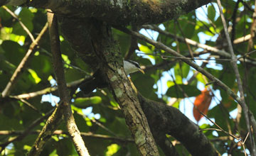
<instances>
[{"instance_id":1,"label":"thick scaly-barked branch slanting down the centre, in front of the bird","mask_svg":"<svg viewBox=\"0 0 256 156\"><path fill-rule=\"evenodd\" d=\"M112 37L111 28L102 21L92 20L90 30L93 52L97 55L101 77L109 84L141 155L159 155L137 95L122 68L122 55Z\"/></svg>"}]
</instances>

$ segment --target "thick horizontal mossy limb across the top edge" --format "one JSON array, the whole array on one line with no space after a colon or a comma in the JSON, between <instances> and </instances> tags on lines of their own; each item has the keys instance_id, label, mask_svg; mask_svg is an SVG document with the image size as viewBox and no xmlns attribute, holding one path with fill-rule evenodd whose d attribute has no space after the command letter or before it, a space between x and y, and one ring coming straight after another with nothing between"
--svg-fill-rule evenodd
<instances>
[{"instance_id":1,"label":"thick horizontal mossy limb across the top edge","mask_svg":"<svg viewBox=\"0 0 256 156\"><path fill-rule=\"evenodd\" d=\"M17 0L18 1L18 0ZM21 0L20 0L21 1ZM118 26L162 23L188 13L211 0L33 0L22 6L51 9L75 18L97 18ZM20 4L20 3L19 3Z\"/></svg>"}]
</instances>

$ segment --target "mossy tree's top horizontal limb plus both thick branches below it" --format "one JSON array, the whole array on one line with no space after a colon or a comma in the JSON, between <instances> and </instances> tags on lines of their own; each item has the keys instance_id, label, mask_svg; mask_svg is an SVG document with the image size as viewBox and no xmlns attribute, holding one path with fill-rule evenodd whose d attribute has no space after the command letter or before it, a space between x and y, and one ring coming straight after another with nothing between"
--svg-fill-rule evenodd
<instances>
[{"instance_id":1,"label":"mossy tree's top horizontal limb plus both thick branches below it","mask_svg":"<svg viewBox=\"0 0 256 156\"><path fill-rule=\"evenodd\" d=\"M0 5L9 2L1 1ZM209 2L210 0L16 0L16 4L12 5L51 9L58 16L65 39L92 70L100 69L101 77L108 82L141 155L159 155L149 126L155 138L161 135L161 138L166 139L163 136L169 133L180 140L192 155L218 155L206 136L181 112L148 101L142 96L138 100L122 69L122 58L117 43L112 39L110 28L110 25L162 23ZM150 121L149 124L146 118ZM157 140L159 144L161 141ZM166 144L161 145L162 148L164 146Z\"/></svg>"}]
</instances>

